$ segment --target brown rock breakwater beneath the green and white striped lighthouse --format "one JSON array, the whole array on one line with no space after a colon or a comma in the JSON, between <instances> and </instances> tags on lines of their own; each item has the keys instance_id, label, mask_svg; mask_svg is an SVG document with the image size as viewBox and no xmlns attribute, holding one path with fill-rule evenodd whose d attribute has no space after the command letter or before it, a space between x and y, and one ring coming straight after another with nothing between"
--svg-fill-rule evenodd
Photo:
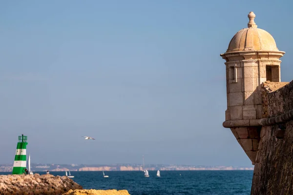
<instances>
[{"instance_id":1,"label":"brown rock breakwater beneath the green and white striped lighthouse","mask_svg":"<svg viewBox=\"0 0 293 195\"><path fill-rule=\"evenodd\" d=\"M0 195L62 195L69 190L83 189L66 176L1 175Z\"/></svg>"}]
</instances>

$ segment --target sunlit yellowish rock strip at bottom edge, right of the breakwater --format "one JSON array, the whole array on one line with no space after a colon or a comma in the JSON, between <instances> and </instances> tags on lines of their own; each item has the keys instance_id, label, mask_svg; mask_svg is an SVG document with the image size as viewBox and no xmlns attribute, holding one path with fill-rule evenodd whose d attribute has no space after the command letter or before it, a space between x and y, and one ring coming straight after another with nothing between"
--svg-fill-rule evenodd
<instances>
[{"instance_id":1,"label":"sunlit yellowish rock strip at bottom edge, right of the breakwater","mask_svg":"<svg viewBox=\"0 0 293 195\"><path fill-rule=\"evenodd\" d=\"M63 195L129 195L127 190L69 190Z\"/></svg>"}]
</instances>

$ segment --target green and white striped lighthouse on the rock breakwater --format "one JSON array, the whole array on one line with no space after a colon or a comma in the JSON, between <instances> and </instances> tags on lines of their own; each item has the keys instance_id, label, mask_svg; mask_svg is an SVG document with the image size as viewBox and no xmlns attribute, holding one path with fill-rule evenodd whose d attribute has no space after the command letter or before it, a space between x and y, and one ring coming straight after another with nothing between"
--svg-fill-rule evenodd
<instances>
[{"instance_id":1,"label":"green and white striped lighthouse on the rock breakwater","mask_svg":"<svg viewBox=\"0 0 293 195\"><path fill-rule=\"evenodd\" d=\"M26 145L27 136L19 136L19 141L17 143L16 154L14 158L12 174L23 174L26 168Z\"/></svg>"}]
</instances>

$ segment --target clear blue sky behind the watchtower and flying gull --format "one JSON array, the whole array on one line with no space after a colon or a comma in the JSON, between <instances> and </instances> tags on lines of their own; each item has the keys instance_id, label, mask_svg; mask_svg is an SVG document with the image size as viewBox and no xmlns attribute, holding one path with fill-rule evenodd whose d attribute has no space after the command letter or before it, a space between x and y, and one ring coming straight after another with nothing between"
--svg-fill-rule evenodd
<instances>
[{"instance_id":1,"label":"clear blue sky behind the watchtower and flying gull","mask_svg":"<svg viewBox=\"0 0 293 195\"><path fill-rule=\"evenodd\" d=\"M251 166L222 127L224 60L253 11L292 80L292 2L27 0L0 6L0 163ZM81 136L95 137L84 140Z\"/></svg>"}]
</instances>

